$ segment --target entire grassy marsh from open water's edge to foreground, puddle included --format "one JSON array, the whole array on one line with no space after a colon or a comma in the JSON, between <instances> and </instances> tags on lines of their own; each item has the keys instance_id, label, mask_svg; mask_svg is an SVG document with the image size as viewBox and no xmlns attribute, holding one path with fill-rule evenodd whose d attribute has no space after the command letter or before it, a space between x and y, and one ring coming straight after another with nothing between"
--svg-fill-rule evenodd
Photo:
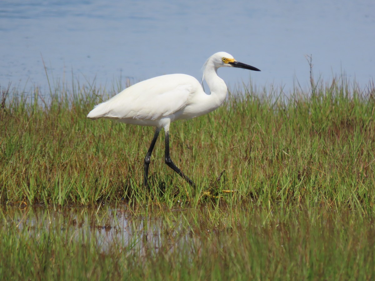
<instances>
[{"instance_id":1,"label":"entire grassy marsh from open water's edge to foreground, puddle included","mask_svg":"<svg viewBox=\"0 0 375 281\"><path fill-rule=\"evenodd\" d=\"M153 128L86 118L116 91L3 89L0 276L374 279L374 85L312 89L244 86L172 124L196 189L164 164L163 137L142 186Z\"/></svg>"}]
</instances>

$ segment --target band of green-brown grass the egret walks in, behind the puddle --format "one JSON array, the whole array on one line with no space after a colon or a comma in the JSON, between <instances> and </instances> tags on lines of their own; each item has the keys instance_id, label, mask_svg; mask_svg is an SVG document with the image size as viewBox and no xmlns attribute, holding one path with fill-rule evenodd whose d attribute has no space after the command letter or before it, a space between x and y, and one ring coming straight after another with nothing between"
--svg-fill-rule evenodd
<instances>
[{"instance_id":1,"label":"band of green-brown grass the egret walks in, behind the puddle","mask_svg":"<svg viewBox=\"0 0 375 281\"><path fill-rule=\"evenodd\" d=\"M151 187L142 186L153 129L88 120L87 112L107 98L104 90L57 89L48 102L37 88L32 99L6 92L0 108L3 204L197 206L207 200L205 191L225 189L236 190L225 196L229 204L374 208L373 85L359 90L335 79L312 94L295 89L288 95L243 87L216 111L174 123L171 158L196 190L164 164L162 138L151 158Z\"/></svg>"}]
</instances>

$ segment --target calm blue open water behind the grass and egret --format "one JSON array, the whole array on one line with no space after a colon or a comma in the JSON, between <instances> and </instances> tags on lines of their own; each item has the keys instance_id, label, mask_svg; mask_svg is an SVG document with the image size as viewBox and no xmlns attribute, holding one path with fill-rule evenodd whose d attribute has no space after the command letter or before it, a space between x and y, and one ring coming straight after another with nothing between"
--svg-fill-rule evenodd
<instances>
[{"instance_id":1,"label":"calm blue open water behind the grass and egret","mask_svg":"<svg viewBox=\"0 0 375 281\"><path fill-rule=\"evenodd\" d=\"M229 87L261 87L345 72L374 79L375 1L0 1L0 87L46 89L49 78L111 88L167 73L201 77L217 51L262 72L221 69Z\"/></svg>"}]
</instances>

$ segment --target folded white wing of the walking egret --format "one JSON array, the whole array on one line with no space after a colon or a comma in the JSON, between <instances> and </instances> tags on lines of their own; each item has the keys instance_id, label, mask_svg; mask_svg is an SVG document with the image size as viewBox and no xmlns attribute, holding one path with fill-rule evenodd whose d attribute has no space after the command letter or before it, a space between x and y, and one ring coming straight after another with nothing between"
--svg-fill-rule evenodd
<instances>
[{"instance_id":1,"label":"folded white wing of the walking egret","mask_svg":"<svg viewBox=\"0 0 375 281\"><path fill-rule=\"evenodd\" d=\"M92 110L93 114L90 112L89 117L158 120L175 114L188 105L197 87L200 87L199 82L189 75L158 76L132 85L107 102L99 104Z\"/></svg>"}]
</instances>

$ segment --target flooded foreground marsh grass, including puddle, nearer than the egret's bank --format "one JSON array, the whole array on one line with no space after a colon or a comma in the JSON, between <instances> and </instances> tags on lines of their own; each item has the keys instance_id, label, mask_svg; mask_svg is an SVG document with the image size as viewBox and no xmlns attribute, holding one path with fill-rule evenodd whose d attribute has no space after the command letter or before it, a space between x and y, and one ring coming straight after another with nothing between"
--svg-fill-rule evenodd
<instances>
[{"instance_id":1,"label":"flooded foreground marsh grass, including puddle, nearer than the egret's bank","mask_svg":"<svg viewBox=\"0 0 375 281\"><path fill-rule=\"evenodd\" d=\"M373 280L374 218L319 208L6 209L5 280Z\"/></svg>"}]
</instances>

